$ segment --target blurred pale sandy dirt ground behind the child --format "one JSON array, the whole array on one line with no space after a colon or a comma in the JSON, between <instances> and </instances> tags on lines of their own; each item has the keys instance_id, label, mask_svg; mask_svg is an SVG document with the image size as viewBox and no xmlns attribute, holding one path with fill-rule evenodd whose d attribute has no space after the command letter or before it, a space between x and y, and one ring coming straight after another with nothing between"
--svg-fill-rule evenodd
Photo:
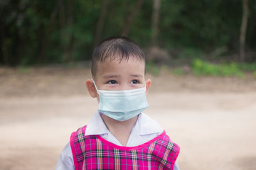
<instances>
[{"instance_id":1,"label":"blurred pale sandy dirt ground behind the child","mask_svg":"<svg viewBox=\"0 0 256 170\"><path fill-rule=\"evenodd\" d=\"M97 109L90 69L0 68L0 169L54 169L70 133ZM145 111L181 146L180 169L256 169L256 79L174 76L152 80Z\"/></svg>"}]
</instances>

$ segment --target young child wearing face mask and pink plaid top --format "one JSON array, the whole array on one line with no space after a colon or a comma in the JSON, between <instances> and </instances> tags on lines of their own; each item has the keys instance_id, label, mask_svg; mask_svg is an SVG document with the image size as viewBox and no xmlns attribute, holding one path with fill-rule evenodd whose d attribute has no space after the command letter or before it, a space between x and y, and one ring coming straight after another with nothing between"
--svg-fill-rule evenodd
<instances>
[{"instance_id":1,"label":"young child wearing face mask and pink plaid top","mask_svg":"<svg viewBox=\"0 0 256 170\"><path fill-rule=\"evenodd\" d=\"M86 86L99 108L87 126L73 132L56 170L175 169L179 147L161 126L142 113L149 105L145 57L124 37L100 42L92 55Z\"/></svg>"}]
</instances>

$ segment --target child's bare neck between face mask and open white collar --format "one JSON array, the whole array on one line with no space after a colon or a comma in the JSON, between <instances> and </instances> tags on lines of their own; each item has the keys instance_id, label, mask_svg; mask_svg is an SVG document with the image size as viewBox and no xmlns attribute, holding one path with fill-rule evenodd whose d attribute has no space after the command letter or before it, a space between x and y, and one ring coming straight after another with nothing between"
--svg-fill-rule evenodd
<instances>
[{"instance_id":1,"label":"child's bare neck between face mask and open white collar","mask_svg":"<svg viewBox=\"0 0 256 170\"><path fill-rule=\"evenodd\" d=\"M135 116L134 118L125 120L123 122L114 120L106 115L102 115L102 119L112 135L117 138L122 146L126 146L129 140L129 135L131 134L132 128L137 122L138 116Z\"/></svg>"}]
</instances>

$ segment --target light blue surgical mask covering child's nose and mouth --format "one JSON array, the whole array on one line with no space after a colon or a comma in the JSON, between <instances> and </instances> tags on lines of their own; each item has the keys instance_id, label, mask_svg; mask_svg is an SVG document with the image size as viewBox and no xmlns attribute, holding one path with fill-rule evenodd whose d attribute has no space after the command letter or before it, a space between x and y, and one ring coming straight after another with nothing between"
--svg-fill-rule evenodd
<instances>
[{"instance_id":1,"label":"light blue surgical mask covering child's nose and mouth","mask_svg":"<svg viewBox=\"0 0 256 170\"><path fill-rule=\"evenodd\" d=\"M95 84L95 81L93 83ZM129 120L149 107L146 101L146 86L124 91L98 90L96 84L95 88L100 96L99 112L114 120Z\"/></svg>"}]
</instances>

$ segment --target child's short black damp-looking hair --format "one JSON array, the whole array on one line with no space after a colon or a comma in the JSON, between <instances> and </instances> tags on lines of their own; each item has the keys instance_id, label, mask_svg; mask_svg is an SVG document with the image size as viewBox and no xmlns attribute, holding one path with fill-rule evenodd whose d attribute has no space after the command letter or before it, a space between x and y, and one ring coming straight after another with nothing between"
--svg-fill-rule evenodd
<instances>
[{"instance_id":1,"label":"child's short black damp-looking hair","mask_svg":"<svg viewBox=\"0 0 256 170\"><path fill-rule=\"evenodd\" d=\"M92 78L96 78L97 62L105 62L107 59L112 61L117 57L119 57L120 62L128 61L130 56L145 62L144 52L133 40L124 36L115 36L102 40L92 53Z\"/></svg>"}]
</instances>

